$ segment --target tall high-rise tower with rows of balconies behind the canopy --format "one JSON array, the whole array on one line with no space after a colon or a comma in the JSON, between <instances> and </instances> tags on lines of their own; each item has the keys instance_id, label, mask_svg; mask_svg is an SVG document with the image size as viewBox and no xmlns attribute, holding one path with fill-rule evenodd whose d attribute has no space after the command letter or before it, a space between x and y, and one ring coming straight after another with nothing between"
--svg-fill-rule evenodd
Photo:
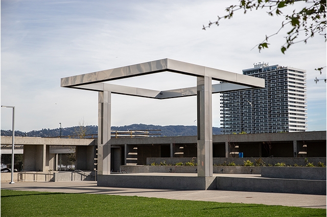
<instances>
[{"instance_id":1,"label":"tall high-rise tower with rows of balconies behind the canopy","mask_svg":"<svg viewBox=\"0 0 327 217\"><path fill-rule=\"evenodd\" d=\"M307 130L306 70L258 63L243 74L265 79L265 88L221 94L222 134Z\"/></svg>"}]
</instances>

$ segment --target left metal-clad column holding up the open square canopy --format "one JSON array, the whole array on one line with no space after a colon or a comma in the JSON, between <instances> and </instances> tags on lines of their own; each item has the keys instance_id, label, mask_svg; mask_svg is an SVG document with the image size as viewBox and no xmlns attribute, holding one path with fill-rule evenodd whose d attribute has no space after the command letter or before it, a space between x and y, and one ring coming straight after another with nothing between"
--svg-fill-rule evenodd
<instances>
[{"instance_id":1,"label":"left metal-clad column holding up the open square canopy","mask_svg":"<svg viewBox=\"0 0 327 217\"><path fill-rule=\"evenodd\" d=\"M111 92L98 97L98 174L110 174Z\"/></svg>"}]
</instances>

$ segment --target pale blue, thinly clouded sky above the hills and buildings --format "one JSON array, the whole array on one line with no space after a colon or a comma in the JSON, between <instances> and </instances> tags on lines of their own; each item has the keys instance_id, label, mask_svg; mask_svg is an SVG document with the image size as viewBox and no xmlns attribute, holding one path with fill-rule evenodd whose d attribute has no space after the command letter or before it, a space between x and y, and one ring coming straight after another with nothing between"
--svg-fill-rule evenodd
<instances>
[{"instance_id":1,"label":"pale blue, thinly clouded sky above the hills and buildings","mask_svg":"<svg viewBox=\"0 0 327 217\"><path fill-rule=\"evenodd\" d=\"M202 25L224 15L232 1L14 1L1 0L1 105L16 107L20 131L98 125L97 92L60 87L60 78L170 58L235 73L268 62L307 70L308 130L326 130L323 36L297 43L283 55L282 31L269 49L251 50L275 33L283 17L265 11L235 13L219 27ZM291 9L293 10L293 9ZM162 73L112 82L152 89L195 86L195 78ZM220 127L219 94L213 126ZM196 125L196 98L153 100L112 95L111 125ZM1 129L12 109L1 108Z\"/></svg>"}]
</instances>

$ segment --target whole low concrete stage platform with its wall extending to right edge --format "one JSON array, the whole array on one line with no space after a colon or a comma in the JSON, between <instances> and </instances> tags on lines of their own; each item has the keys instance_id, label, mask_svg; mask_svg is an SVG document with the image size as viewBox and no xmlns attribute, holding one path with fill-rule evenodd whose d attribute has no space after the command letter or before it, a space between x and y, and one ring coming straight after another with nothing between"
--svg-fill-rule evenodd
<instances>
[{"instance_id":1,"label":"whole low concrete stage platform with its wall extending to right edge","mask_svg":"<svg viewBox=\"0 0 327 217\"><path fill-rule=\"evenodd\" d=\"M98 175L98 186L176 190L233 190L326 195L326 180L264 178L258 174L131 173Z\"/></svg>"}]
</instances>

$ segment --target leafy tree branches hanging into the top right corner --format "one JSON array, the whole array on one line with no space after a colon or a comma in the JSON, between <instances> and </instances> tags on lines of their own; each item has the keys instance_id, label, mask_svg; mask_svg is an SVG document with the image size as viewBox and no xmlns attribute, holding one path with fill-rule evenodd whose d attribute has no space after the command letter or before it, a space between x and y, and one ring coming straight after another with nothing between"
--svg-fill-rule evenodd
<instances>
[{"instance_id":1,"label":"leafy tree branches hanging into the top right corner","mask_svg":"<svg viewBox=\"0 0 327 217\"><path fill-rule=\"evenodd\" d=\"M306 3L306 7L297 11L293 10L291 14L283 15L283 10L288 7L295 7L300 3ZM259 52L265 48L268 48L268 40L274 35L277 35L282 29L288 27L289 30L285 36L285 43L281 47L283 54L289 49L292 44L298 42L307 43L308 39L318 35L322 35L326 41L326 0L240 0L238 5L231 5L225 9L227 14L224 16L218 16L215 22L209 21L207 26L203 25L203 30L210 28L212 25L219 26L221 19L230 19L235 12L243 10L244 14L248 11L258 9L268 9L267 14L269 16L284 16L285 20L282 22L281 28L272 35L265 37L265 39L255 45L258 47ZM303 39L300 39L303 38Z\"/></svg>"}]
</instances>

